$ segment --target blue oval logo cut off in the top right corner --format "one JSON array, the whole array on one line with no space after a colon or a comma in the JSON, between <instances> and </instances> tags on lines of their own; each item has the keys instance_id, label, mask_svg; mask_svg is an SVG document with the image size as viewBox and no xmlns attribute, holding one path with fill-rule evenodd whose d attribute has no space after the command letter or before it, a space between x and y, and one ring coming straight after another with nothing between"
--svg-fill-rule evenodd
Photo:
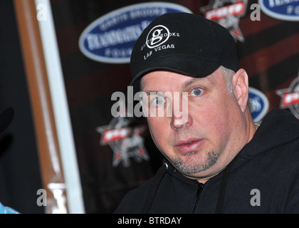
<instances>
[{"instance_id":1,"label":"blue oval logo cut off in the top right corner","mask_svg":"<svg viewBox=\"0 0 299 228\"><path fill-rule=\"evenodd\" d=\"M275 19L299 21L299 1L258 0L261 10Z\"/></svg>"}]
</instances>

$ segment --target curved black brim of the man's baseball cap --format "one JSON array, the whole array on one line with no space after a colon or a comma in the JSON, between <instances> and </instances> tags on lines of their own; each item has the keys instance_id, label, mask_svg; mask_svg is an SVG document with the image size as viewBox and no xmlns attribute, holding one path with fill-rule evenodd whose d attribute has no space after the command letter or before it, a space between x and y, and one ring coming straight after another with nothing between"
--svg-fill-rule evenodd
<instances>
[{"instance_id":1,"label":"curved black brim of the man's baseball cap","mask_svg":"<svg viewBox=\"0 0 299 228\"><path fill-rule=\"evenodd\" d=\"M130 83L134 86L137 81L152 71L171 71L174 73L181 73L186 76L194 78L204 78L219 68L219 63L200 58L199 56L175 54L171 56L162 56L155 58L145 66L144 71L140 71Z\"/></svg>"}]
</instances>

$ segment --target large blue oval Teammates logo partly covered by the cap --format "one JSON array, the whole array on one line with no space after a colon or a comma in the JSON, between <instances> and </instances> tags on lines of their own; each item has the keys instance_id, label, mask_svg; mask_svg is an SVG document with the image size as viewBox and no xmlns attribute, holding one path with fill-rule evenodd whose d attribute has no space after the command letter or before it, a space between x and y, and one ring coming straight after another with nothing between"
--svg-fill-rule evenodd
<instances>
[{"instance_id":1,"label":"large blue oval Teammates logo partly covered by the cap","mask_svg":"<svg viewBox=\"0 0 299 228\"><path fill-rule=\"evenodd\" d=\"M93 21L80 36L80 51L95 61L130 63L135 41L157 16L170 12L192 13L184 6L164 2L134 4Z\"/></svg>"}]
</instances>

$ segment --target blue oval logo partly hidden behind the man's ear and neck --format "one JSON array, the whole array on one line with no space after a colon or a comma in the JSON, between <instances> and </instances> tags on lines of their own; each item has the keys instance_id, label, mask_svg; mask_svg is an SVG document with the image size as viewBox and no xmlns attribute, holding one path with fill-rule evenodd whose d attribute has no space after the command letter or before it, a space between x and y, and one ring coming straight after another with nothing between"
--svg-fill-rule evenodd
<instances>
[{"instance_id":1,"label":"blue oval logo partly hidden behind the man's ear and neck","mask_svg":"<svg viewBox=\"0 0 299 228\"><path fill-rule=\"evenodd\" d=\"M266 95L256 88L249 87L249 100L251 101L251 116L254 121L260 121L268 112L269 101Z\"/></svg>"}]
</instances>

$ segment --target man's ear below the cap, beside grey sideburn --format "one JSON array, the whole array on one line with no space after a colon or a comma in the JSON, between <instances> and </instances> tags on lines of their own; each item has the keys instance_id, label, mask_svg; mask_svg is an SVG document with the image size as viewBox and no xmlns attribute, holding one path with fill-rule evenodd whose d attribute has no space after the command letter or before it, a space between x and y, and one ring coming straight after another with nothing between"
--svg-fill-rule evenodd
<instances>
[{"instance_id":1,"label":"man's ear below the cap, beside grey sideburn","mask_svg":"<svg viewBox=\"0 0 299 228\"><path fill-rule=\"evenodd\" d=\"M234 95L243 113L248 101L248 75L244 69L239 69L233 76Z\"/></svg>"}]
</instances>

